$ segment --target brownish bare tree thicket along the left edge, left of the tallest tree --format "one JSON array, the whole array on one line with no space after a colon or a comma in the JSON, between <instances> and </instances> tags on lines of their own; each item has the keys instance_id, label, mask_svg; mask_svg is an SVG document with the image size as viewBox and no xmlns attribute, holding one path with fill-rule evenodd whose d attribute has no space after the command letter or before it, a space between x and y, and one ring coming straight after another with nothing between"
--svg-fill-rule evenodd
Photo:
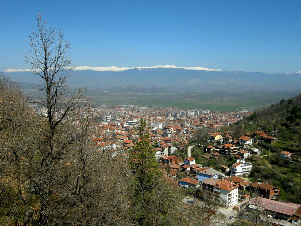
<instances>
[{"instance_id":1,"label":"brownish bare tree thicket along the left edge, left of the tallest tree","mask_svg":"<svg viewBox=\"0 0 301 226\"><path fill-rule=\"evenodd\" d=\"M27 225L32 217L31 195L24 174L31 148L31 112L19 84L0 74L0 196L4 222Z\"/></svg>"}]
</instances>

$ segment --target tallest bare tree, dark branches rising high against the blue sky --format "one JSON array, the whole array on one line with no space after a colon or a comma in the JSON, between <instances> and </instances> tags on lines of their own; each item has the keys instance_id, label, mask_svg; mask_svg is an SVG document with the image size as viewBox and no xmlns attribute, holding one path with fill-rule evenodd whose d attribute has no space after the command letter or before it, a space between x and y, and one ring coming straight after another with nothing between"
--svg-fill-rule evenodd
<instances>
[{"instance_id":1,"label":"tallest bare tree, dark branches rising high against the blue sky","mask_svg":"<svg viewBox=\"0 0 301 226\"><path fill-rule=\"evenodd\" d=\"M47 116L42 117L36 127L39 132L36 139L38 149L32 152L28 176L40 197L38 225L46 225L58 217L55 209L51 208L51 198L56 196L57 185L61 183L62 159L70 152L70 146L76 139L66 119L80 107L83 89L75 89L72 94L68 89L66 81L72 66L67 53L71 46L63 32L48 26L41 14L36 18L36 25L37 31L29 36L30 50L24 59L31 65L32 73L44 82L38 90L45 95L33 101L46 108ZM48 218L49 213L52 219Z\"/></svg>"}]
</instances>

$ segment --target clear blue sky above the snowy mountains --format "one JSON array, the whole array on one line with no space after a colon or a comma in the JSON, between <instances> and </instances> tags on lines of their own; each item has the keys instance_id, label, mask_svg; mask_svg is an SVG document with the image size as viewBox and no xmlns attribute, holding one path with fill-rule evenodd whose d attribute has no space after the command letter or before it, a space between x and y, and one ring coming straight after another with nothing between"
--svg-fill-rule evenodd
<instances>
[{"instance_id":1,"label":"clear blue sky above the snowy mountains","mask_svg":"<svg viewBox=\"0 0 301 226\"><path fill-rule=\"evenodd\" d=\"M0 71L29 68L38 12L65 30L76 66L172 64L301 70L301 1L2 1Z\"/></svg>"}]
</instances>

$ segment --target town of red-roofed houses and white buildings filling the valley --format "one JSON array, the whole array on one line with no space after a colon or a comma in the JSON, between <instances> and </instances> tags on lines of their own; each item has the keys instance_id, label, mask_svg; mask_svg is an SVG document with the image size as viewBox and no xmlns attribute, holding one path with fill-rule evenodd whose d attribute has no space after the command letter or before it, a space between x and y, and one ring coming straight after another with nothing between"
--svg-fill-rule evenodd
<instances>
[{"instance_id":1,"label":"town of red-roofed houses and white buildings filling the valley","mask_svg":"<svg viewBox=\"0 0 301 226\"><path fill-rule=\"evenodd\" d=\"M39 114L45 114L45 108L37 110ZM101 150L110 150L117 158L128 158L132 147L140 141L137 128L140 120L145 119L149 133L147 140L154 147L154 159L159 162L164 177L186 191L188 204L200 205L203 197L195 199L198 190L205 197L216 194L218 198L214 203L221 207L220 212L224 209L232 211L228 216L231 222L236 220L234 209L259 208L261 217L275 224L300 223L300 205L279 202L281 190L278 187L260 180L251 182L248 178L253 169L253 163L248 159L252 156L260 158L264 151L256 143L277 142L277 131L272 134L253 131L234 137L231 131L222 130L223 126L252 115L250 109L211 112L140 105L94 105L93 112L94 125L99 131L93 141ZM197 159L192 157L194 149L203 152ZM292 153L283 151L280 158L291 159ZM231 159L231 164L221 161L220 165L210 165L218 159Z\"/></svg>"}]
</instances>

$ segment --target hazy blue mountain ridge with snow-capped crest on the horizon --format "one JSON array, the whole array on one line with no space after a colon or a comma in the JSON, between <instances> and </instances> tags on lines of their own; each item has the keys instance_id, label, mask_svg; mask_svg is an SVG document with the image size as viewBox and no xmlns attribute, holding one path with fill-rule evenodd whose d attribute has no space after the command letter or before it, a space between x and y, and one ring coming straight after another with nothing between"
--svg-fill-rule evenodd
<instances>
[{"instance_id":1,"label":"hazy blue mountain ridge with snow-capped crest on the horizon","mask_svg":"<svg viewBox=\"0 0 301 226\"><path fill-rule=\"evenodd\" d=\"M167 65L170 66L170 65ZM175 66L174 66L175 67ZM68 83L72 86L87 86L89 89L110 90L116 87L138 86L141 89L182 90L300 90L300 72L266 74L262 72L194 70L174 67L132 68L123 71L71 71ZM41 83L30 71L3 72L16 82Z\"/></svg>"}]
</instances>

